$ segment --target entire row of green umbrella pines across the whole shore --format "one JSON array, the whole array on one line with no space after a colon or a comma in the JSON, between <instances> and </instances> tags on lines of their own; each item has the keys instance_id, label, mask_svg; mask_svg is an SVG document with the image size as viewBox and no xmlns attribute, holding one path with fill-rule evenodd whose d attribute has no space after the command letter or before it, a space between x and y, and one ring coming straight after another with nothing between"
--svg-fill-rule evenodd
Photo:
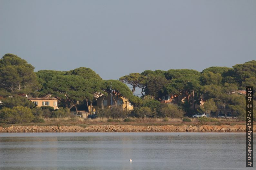
<instances>
[{"instance_id":1,"label":"entire row of green umbrella pines across the whole shore","mask_svg":"<svg viewBox=\"0 0 256 170\"><path fill-rule=\"evenodd\" d=\"M126 84L132 85L132 90ZM0 109L34 107L33 103L19 94L34 97L52 94L63 108L75 108L77 111L81 105L86 105L92 110L99 95L110 94L115 107L118 97L127 98L135 107L131 114L137 117L181 117L184 112L190 116L199 111L196 105L202 101L205 104L200 111L214 112L219 108L226 114L229 108L244 117L245 96L233 92L246 86L255 87L255 84L255 60L232 68L209 67L202 72L189 69L145 70L120 77L119 80L103 80L86 67L70 71L34 72L32 65L16 55L5 54L0 59ZM133 95L136 88L141 89L141 98ZM253 93L255 100L255 88ZM181 96L182 101L177 103L178 107L160 103L165 95Z\"/></svg>"}]
</instances>

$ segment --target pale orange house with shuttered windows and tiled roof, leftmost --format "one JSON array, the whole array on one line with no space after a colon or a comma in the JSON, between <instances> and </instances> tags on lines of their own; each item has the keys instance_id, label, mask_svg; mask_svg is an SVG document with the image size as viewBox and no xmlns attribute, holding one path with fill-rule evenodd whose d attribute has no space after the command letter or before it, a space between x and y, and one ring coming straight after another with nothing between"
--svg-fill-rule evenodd
<instances>
[{"instance_id":1,"label":"pale orange house with shuttered windows and tiled roof, leftmost","mask_svg":"<svg viewBox=\"0 0 256 170\"><path fill-rule=\"evenodd\" d=\"M29 97L28 100L35 103L37 107L51 106L54 109L58 109L58 100L54 97Z\"/></svg>"}]
</instances>

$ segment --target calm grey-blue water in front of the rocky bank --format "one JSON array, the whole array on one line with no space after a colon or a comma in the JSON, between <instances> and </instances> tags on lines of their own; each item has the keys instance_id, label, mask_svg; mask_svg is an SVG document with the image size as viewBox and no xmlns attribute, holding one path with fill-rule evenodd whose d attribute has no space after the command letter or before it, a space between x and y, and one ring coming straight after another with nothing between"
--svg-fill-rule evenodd
<instances>
[{"instance_id":1,"label":"calm grey-blue water in front of the rocky bank","mask_svg":"<svg viewBox=\"0 0 256 170\"><path fill-rule=\"evenodd\" d=\"M245 167L245 138L245 133L213 132L2 133L0 169L256 169L256 163Z\"/></svg>"}]
</instances>

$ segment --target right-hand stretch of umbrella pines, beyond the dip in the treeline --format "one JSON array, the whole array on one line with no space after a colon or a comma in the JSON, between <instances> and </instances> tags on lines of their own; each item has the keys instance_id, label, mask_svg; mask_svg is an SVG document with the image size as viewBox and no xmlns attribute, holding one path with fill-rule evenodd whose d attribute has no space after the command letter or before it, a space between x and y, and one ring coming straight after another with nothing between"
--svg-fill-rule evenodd
<instances>
[{"instance_id":1,"label":"right-hand stretch of umbrella pines, beyond the dip in the treeline","mask_svg":"<svg viewBox=\"0 0 256 170\"><path fill-rule=\"evenodd\" d=\"M231 109L239 116L245 116L245 95L238 95L246 86L256 86L256 61L229 67L209 67L201 73L190 69L145 70L142 73L131 73L119 78L132 85L134 92L141 88L141 94L154 96L162 101L165 95L181 96L182 106L187 116L197 112L196 104L205 102L201 111L220 109L225 115ZM255 88L253 90L256 100Z\"/></svg>"}]
</instances>

